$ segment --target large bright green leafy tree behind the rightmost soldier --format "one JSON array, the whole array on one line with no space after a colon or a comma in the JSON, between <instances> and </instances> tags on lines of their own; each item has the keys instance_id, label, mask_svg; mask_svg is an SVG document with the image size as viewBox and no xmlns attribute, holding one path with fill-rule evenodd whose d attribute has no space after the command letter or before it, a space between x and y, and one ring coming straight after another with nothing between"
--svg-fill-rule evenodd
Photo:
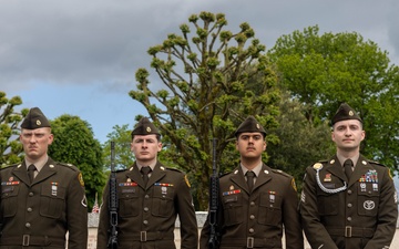
<instances>
[{"instance_id":1,"label":"large bright green leafy tree behind the rightmost soldier","mask_svg":"<svg viewBox=\"0 0 399 249\"><path fill-rule=\"evenodd\" d=\"M367 137L361 153L398 168L398 66L356 32L318 31L316 25L283 35L268 52L280 83L306 105L305 115L315 126L347 102L364 120Z\"/></svg>"}]
</instances>

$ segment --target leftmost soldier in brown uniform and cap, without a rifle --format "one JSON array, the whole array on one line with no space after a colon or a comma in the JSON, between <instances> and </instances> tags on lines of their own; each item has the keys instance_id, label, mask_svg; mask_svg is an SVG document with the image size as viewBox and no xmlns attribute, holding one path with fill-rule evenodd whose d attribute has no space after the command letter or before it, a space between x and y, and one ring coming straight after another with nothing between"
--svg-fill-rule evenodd
<instances>
[{"instance_id":1,"label":"leftmost soldier in brown uniform and cap, without a rifle","mask_svg":"<svg viewBox=\"0 0 399 249\"><path fill-rule=\"evenodd\" d=\"M53 135L40 108L31 108L23 120L20 141L23 162L0 170L0 249L86 248L82 174L48 156Z\"/></svg>"}]
</instances>

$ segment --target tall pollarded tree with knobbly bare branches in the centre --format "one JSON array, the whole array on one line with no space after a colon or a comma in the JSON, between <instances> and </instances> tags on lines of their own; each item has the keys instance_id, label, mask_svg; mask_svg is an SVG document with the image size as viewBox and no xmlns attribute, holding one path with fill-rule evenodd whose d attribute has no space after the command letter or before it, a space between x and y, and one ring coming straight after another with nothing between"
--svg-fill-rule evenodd
<instances>
[{"instance_id":1,"label":"tall pollarded tree with knobbly bare branches in the centre","mask_svg":"<svg viewBox=\"0 0 399 249\"><path fill-rule=\"evenodd\" d=\"M168 34L149 49L151 68L163 86L150 90L149 71L136 71L137 90L130 96L144 105L157 125L167 149L163 158L174 162L196 185L196 209L207 207L212 173L212 138L217 138L217 163L223 169L237 166L238 155L225 153L234 145L234 131L254 115L264 127L277 125L277 77L248 23L237 33L226 31L223 13L201 12L182 24L182 35ZM202 25L201 25L202 23ZM233 44L234 43L234 44ZM161 89L155 92L156 89ZM136 117L139 120L140 117ZM273 139L273 135L267 137Z\"/></svg>"}]
</instances>

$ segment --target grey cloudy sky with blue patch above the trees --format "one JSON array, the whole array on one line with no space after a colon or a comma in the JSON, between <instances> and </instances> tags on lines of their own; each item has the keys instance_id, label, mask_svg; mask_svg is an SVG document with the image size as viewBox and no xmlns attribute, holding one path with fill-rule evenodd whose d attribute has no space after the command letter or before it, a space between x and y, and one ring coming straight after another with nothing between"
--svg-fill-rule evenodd
<instances>
[{"instance_id":1,"label":"grey cloudy sky with blue patch above the trees","mask_svg":"<svg viewBox=\"0 0 399 249\"><path fill-rule=\"evenodd\" d=\"M225 13L235 32L248 22L267 49L316 24L320 33L358 32L399 64L397 0L0 0L0 91L51 120L80 116L101 143L114 125L132 127L135 115L146 115L127 93L135 71L150 69L147 49L201 11Z\"/></svg>"}]
</instances>

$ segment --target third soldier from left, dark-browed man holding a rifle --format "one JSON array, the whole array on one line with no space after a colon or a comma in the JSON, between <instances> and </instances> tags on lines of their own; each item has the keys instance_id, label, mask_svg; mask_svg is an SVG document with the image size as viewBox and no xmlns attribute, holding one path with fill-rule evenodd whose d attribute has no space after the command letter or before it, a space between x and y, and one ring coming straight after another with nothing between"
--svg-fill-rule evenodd
<instances>
[{"instance_id":1,"label":"third soldier from left, dark-browed man holding a rifle","mask_svg":"<svg viewBox=\"0 0 399 249\"><path fill-rule=\"evenodd\" d=\"M294 178L262 162L266 132L253 117L237 128L241 165L219 178L217 228L221 249L304 248ZM200 248L208 249L209 215L201 231Z\"/></svg>"}]
</instances>

